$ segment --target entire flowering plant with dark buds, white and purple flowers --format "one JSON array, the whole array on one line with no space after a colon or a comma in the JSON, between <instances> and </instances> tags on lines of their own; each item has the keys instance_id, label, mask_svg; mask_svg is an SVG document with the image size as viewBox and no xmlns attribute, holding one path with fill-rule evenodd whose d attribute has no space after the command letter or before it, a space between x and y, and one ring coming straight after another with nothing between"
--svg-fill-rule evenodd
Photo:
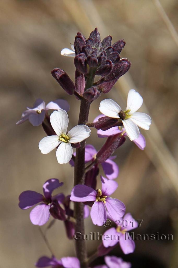
<instances>
[{"instance_id":1,"label":"entire flowering plant with dark buds, white and purple flowers","mask_svg":"<svg viewBox=\"0 0 178 268\"><path fill-rule=\"evenodd\" d=\"M119 174L119 168L113 161L116 156L113 154L124 144L126 137L143 150L146 142L138 127L148 130L151 118L145 113L136 112L141 107L143 99L138 92L131 89L125 110L122 110L114 100L105 99L98 107L102 114L97 115L93 122L88 122L91 103L101 94L109 92L119 77L130 68L130 61L120 56L124 46L123 39L112 44L110 35L101 41L97 28L90 33L88 39L78 32L71 46L72 50L68 48L61 50L61 55L74 57L75 83L62 69L55 68L51 72L66 94L75 95L76 103L80 102L78 125L70 130L67 129L69 104L62 99L51 101L47 105L42 99L37 99L34 106L27 107L22 113L21 120L17 122L21 124L29 120L33 126L42 125L47 135L39 142L42 154L54 150L56 162L59 164L70 162L72 168L74 167L73 188L71 186L70 195L64 196L63 193L52 195L52 192L63 183L58 179L46 180L47 178L44 179L43 195L32 190L20 194L21 209L28 209L38 204L30 212L32 224L44 225L51 216L63 221L67 238L74 239L76 233L80 233L81 237L85 235L84 219L89 215L92 223L98 226L106 226L108 219L113 225L114 222L120 222L120 225L117 223L104 233L109 239L103 240L94 255L88 256L85 239L74 239L75 257L57 259L54 255L51 258L42 256L36 262L36 267L85 268L89 267L98 256L107 255L117 244L120 244L124 254L129 254L135 249L134 241L130 239L127 241L125 234L128 235L127 231L137 228L138 224L130 213L125 214L126 207L122 201L110 197L118 187L114 179ZM100 77L98 81L95 81L96 75ZM49 110L53 112L49 114ZM107 138L103 146L97 150L92 144L86 145L86 139L91 134L90 128L97 129L99 138ZM73 149L76 151L73 152ZM98 180L97 184L101 167L106 178L100 176L101 180ZM73 209L71 202L74 203ZM125 222L128 222L127 226ZM52 226L51 223L49 225ZM120 239L113 241L112 235ZM116 256L105 256L105 264L97 267L131 267L131 263L126 263Z\"/></svg>"}]
</instances>

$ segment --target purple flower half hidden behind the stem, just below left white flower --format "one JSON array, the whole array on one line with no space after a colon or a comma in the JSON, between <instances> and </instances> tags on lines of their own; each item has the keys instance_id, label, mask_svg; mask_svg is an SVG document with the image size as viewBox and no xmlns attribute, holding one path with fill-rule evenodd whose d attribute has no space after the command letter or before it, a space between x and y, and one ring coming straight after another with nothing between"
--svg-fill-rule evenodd
<instances>
[{"instance_id":1,"label":"purple flower half hidden behind the stem, just below left white flower","mask_svg":"<svg viewBox=\"0 0 178 268\"><path fill-rule=\"evenodd\" d=\"M90 161L94 161L94 159L96 158L96 154L97 154L97 151L96 151L95 147L88 144L85 147L85 163L90 162ZM75 153L74 153L74 155L75 155ZM113 180L113 179L117 178L117 176L119 174L118 165L114 161L112 161L115 158L116 158L116 156L110 157L105 162L103 162L101 164L102 168L105 172L105 175L109 180ZM70 161L70 164L72 166L74 166L73 160Z\"/></svg>"}]
</instances>

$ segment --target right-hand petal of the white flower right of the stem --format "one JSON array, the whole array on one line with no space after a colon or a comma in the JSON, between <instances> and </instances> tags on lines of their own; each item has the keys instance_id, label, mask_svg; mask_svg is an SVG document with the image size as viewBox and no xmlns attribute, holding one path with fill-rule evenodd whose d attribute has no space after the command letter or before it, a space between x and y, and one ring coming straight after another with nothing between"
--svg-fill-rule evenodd
<instances>
[{"instance_id":1,"label":"right-hand petal of the white flower right of the stem","mask_svg":"<svg viewBox=\"0 0 178 268\"><path fill-rule=\"evenodd\" d=\"M151 117L144 113L133 113L130 119L140 128L148 130L151 125Z\"/></svg>"}]
</instances>

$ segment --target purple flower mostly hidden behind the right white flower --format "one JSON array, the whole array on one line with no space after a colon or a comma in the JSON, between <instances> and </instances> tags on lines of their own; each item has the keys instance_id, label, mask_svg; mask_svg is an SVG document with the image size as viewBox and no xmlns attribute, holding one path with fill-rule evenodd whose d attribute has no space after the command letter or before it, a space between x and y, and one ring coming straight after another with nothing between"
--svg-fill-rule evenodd
<instances>
[{"instance_id":1,"label":"purple flower mostly hidden behind the right white flower","mask_svg":"<svg viewBox=\"0 0 178 268\"><path fill-rule=\"evenodd\" d=\"M99 118L104 117L103 114L100 114L99 116L97 116L94 119L94 122L98 121ZM125 129L118 126L114 126L108 130L101 130L99 129L97 131L98 137L99 138L105 138L105 137L110 137L110 136L114 136L121 133L122 136L127 136L127 133L125 132ZM141 150L144 150L145 146L146 146L146 141L145 141L145 137L140 133L138 139L133 140L133 142L138 146L138 148L140 148Z\"/></svg>"}]
</instances>

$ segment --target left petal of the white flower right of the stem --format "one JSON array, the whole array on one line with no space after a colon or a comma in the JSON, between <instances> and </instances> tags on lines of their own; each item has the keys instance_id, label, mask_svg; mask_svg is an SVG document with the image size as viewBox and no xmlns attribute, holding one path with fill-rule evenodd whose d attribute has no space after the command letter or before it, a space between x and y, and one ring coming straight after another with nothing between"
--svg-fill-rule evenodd
<instances>
[{"instance_id":1,"label":"left petal of the white flower right of the stem","mask_svg":"<svg viewBox=\"0 0 178 268\"><path fill-rule=\"evenodd\" d=\"M121 111L121 107L111 99L105 99L100 102L99 110L105 116L119 118L118 113Z\"/></svg>"}]
</instances>

